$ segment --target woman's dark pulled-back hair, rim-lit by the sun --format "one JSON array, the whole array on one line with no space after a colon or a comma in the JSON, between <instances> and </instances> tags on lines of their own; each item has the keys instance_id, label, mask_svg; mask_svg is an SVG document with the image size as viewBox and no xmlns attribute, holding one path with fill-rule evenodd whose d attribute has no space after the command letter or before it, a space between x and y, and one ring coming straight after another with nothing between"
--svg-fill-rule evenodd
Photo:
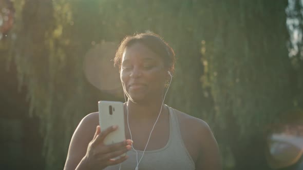
<instances>
[{"instance_id":1,"label":"woman's dark pulled-back hair, rim-lit by the sun","mask_svg":"<svg viewBox=\"0 0 303 170\"><path fill-rule=\"evenodd\" d=\"M140 33L133 36L126 36L116 52L114 61L115 66L119 66L121 69L122 56L127 47L134 45L136 42L147 47L159 55L164 61L164 67L174 73L175 70L175 52L159 35L155 33Z\"/></svg>"}]
</instances>

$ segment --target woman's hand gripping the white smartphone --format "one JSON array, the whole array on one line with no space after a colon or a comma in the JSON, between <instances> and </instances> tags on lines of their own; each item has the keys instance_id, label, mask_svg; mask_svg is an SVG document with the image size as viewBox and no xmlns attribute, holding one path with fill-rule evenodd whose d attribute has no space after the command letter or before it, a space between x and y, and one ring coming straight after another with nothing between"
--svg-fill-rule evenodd
<instances>
[{"instance_id":1,"label":"woman's hand gripping the white smartphone","mask_svg":"<svg viewBox=\"0 0 303 170\"><path fill-rule=\"evenodd\" d=\"M100 126L97 126L96 133L89 142L86 155L84 156L85 164L88 169L104 169L107 166L119 164L127 159L126 155L121 156L118 159L113 158L119 157L131 150L131 140L128 139L110 145L105 145L103 143L105 137L117 128L118 126L110 126L101 132Z\"/></svg>"}]
</instances>

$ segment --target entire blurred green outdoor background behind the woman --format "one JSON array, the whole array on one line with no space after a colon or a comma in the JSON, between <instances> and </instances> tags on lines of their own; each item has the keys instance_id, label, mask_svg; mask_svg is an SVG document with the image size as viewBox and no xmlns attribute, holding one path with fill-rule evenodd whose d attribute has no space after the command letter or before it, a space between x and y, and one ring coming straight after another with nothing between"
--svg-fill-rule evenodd
<instances>
[{"instance_id":1,"label":"entire blurred green outdoor background behind the woman","mask_svg":"<svg viewBox=\"0 0 303 170\"><path fill-rule=\"evenodd\" d=\"M224 169L300 169L302 14L299 0L0 0L1 169L63 169L80 120L124 101L119 42L146 31L176 52L166 103L209 123Z\"/></svg>"}]
</instances>

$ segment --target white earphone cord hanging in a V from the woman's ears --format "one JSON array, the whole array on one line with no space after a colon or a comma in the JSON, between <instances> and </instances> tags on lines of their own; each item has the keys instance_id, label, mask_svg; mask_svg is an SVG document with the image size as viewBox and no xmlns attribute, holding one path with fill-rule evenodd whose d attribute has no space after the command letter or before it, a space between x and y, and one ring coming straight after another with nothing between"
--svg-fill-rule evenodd
<instances>
[{"instance_id":1,"label":"white earphone cord hanging in a V from the woman's ears","mask_svg":"<svg viewBox=\"0 0 303 170\"><path fill-rule=\"evenodd\" d=\"M149 137L148 137L148 139L147 139L147 143L146 143L146 145L145 145L144 151L143 151L143 153L142 153L142 156L141 156L139 162L138 162L138 151L135 150L135 147L134 147L134 146L132 145L132 143L131 143L131 147L132 147L132 148L134 149L134 151L136 152L136 158L137 158L137 166L136 166L135 170L138 170L138 169L139 169L138 166L139 166L139 164L140 164L140 162L141 162L141 160L142 160L142 158L143 158L143 156L144 156L144 153L145 153L145 150L146 150L146 148L147 148L147 145L148 145L148 142L149 142L151 133L153 133L154 128L155 128L155 126L156 126L156 123L157 123L157 121L158 121L158 119L159 119L159 117L160 117L160 115L161 115L161 111L162 111L162 107L163 107L163 103L164 103L164 100L165 100L166 93L167 93L167 91L168 91L168 89L169 89L169 86L171 86L173 76L171 75L171 72L169 72L169 71L168 71L168 74L169 74L169 76L171 76L171 81L169 81L167 90L166 90L166 92L165 92L165 94L164 94L164 97L163 97L163 100L162 100L162 104L161 104L161 109L160 109L159 115L158 115L158 117L157 117L157 120L156 120L156 122L155 122L153 128L151 129L151 131L150 131L150 133L149 133ZM124 88L123 84L122 84L122 87L123 87L123 92L124 92L124 100L125 100L125 102L126 102L125 88ZM127 105L126 105L126 110L127 110L127 126L128 126L128 131L129 131L129 134L130 134L130 139L132 140L131 131L130 131L130 128L129 128L129 121L128 121L128 103L127 103ZM122 165L122 163L120 163L119 170L121 169L121 165Z\"/></svg>"}]
</instances>

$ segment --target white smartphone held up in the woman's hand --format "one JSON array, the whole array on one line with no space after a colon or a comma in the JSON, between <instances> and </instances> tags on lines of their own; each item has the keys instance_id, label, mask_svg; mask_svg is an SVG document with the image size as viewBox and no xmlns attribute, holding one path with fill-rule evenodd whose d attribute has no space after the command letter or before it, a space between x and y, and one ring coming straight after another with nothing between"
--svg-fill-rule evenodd
<instances>
[{"instance_id":1,"label":"white smartphone held up in the woman's hand","mask_svg":"<svg viewBox=\"0 0 303 170\"><path fill-rule=\"evenodd\" d=\"M99 101L99 124L101 131L107 129L109 126L118 125L118 129L109 133L105 139L104 144L118 143L125 140L124 131L124 109L123 103L120 101Z\"/></svg>"}]
</instances>

